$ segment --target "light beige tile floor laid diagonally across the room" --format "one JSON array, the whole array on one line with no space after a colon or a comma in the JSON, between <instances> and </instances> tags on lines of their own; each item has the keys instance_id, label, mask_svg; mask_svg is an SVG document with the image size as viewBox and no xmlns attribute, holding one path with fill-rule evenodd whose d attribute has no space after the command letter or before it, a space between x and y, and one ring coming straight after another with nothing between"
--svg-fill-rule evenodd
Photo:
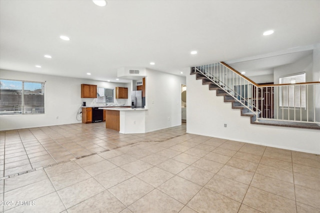
<instances>
[{"instance_id":1,"label":"light beige tile floor laid diagonally across the room","mask_svg":"<svg viewBox=\"0 0 320 213\"><path fill-rule=\"evenodd\" d=\"M320 156L186 134L185 124L3 131L0 201L5 213L320 213Z\"/></svg>"}]
</instances>

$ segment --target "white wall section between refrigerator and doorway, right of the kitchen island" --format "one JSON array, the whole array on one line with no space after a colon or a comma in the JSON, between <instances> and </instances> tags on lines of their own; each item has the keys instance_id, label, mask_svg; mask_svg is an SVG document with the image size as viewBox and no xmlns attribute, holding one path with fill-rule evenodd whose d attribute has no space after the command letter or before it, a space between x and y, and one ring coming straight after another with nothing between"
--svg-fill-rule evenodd
<instances>
[{"instance_id":1,"label":"white wall section between refrigerator and doorway, right of the kitchen island","mask_svg":"<svg viewBox=\"0 0 320 213\"><path fill-rule=\"evenodd\" d=\"M181 84L184 76L146 69L146 132L181 125Z\"/></svg>"}]
</instances>

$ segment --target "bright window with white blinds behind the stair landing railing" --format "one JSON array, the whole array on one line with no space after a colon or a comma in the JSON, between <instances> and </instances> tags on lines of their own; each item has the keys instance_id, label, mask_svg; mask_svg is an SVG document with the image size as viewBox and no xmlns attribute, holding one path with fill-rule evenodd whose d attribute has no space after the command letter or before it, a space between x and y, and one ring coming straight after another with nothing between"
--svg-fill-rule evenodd
<instances>
[{"instance_id":1,"label":"bright window with white blinds behind the stair landing railing","mask_svg":"<svg viewBox=\"0 0 320 213\"><path fill-rule=\"evenodd\" d=\"M279 78L279 84L292 84L279 87L279 106L305 108L305 73Z\"/></svg>"}]
</instances>

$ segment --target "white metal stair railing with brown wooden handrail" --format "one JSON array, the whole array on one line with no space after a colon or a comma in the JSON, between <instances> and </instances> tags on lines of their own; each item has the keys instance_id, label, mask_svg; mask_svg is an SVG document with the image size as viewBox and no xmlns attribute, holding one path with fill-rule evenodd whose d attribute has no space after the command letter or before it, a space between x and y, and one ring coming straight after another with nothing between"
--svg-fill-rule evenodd
<instances>
[{"instance_id":1,"label":"white metal stair railing with brown wooden handrail","mask_svg":"<svg viewBox=\"0 0 320 213\"><path fill-rule=\"evenodd\" d=\"M194 69L255 114L256 121L320 125L320 82L258 85L223 62L195 66Z\"/></svg>"}]
</instances>

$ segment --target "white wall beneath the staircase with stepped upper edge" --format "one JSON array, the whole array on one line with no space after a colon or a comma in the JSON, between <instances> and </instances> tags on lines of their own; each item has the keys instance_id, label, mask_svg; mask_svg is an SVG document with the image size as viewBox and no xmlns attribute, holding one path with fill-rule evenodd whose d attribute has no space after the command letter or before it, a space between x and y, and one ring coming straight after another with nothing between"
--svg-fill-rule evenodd
<instances>
[{"instance_id":1,"label":"white wall beneath the staircase with stepped upper edge","mask_svg":"<svg viewBox=\"0 0 320 213\"><path fill-rule=\"evenodd\" d=\"M319 130L250 124L249 117L240 116L194 75L186 76L186 85L187 133L320 154Z\"/></svg>"}]
</instances>

